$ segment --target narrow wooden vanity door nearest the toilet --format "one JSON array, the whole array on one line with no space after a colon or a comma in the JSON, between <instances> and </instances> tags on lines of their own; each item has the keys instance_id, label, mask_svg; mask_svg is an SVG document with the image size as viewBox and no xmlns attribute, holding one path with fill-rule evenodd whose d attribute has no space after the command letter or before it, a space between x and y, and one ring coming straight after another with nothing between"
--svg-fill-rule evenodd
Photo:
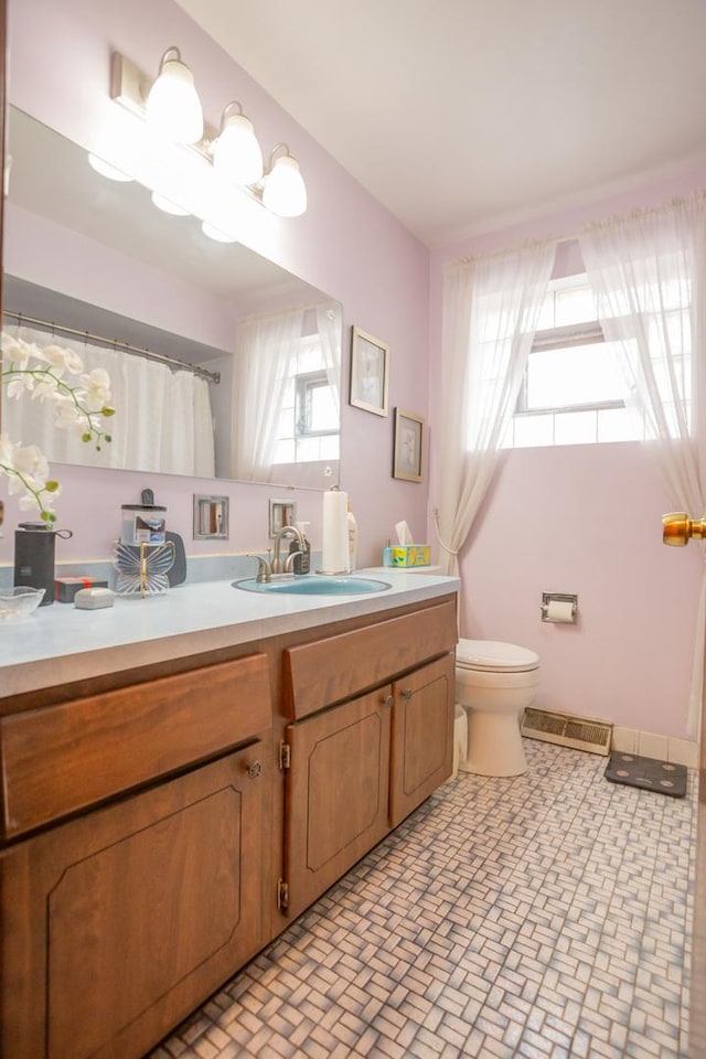
<instances>
[{"instance_id":1,"label":"narrow wooden vanity door nearest the toilet","mask_svg":"<svg viewBox=\"0 0 706 1059\"><path fill-rule=\"evenodd\" d=\"M430 662L393 685L389 823L396 827L451 775L453 655Z\"/></svg>"}]
</instances>

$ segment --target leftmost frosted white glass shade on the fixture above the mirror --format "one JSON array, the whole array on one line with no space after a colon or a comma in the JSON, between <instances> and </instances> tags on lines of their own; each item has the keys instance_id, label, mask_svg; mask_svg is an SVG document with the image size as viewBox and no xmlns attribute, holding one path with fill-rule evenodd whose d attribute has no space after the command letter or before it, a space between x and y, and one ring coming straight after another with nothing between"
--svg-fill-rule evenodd
<instances>
[{"instance_id":1,"label":"leftmost frosted white glass shade on the fixture above the mirror","mask_svg":"<svg viewBox=\"0 0 706 1059\"><path fill-rule=\"evenodd\" d=\"M194 76L178 47L169 47L159 77L150 88L145 113L148 122L173 143L197 143L203 136L203 110Z\"/></svg>"}]
</instances>

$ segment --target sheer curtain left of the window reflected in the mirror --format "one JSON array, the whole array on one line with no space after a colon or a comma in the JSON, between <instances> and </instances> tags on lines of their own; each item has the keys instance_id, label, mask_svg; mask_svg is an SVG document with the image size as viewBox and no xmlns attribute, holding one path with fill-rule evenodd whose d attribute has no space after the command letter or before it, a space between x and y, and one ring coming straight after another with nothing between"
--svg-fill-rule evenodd
<instances>
[{"instance_id":1,"label":"sheer curtain left of the window reflected in the mirror","mask_svg":"<svg viewBox=\"0 0 706 1059\"><path fill-rule=\"evenodd\" d=\"M269 477L289 359L301 339L304 309L238 323L233 372L233 469L242 481Z\"/></svg>"}]
</instances>

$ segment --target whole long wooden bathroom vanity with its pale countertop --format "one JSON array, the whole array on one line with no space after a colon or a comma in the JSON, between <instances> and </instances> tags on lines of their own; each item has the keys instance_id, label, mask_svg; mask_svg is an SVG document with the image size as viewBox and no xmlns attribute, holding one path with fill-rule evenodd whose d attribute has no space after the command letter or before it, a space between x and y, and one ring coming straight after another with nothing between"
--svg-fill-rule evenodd
<instances>
[{"instance_id":1,"label":"whole long wooden bathroom vanity with its pale countertop","mask_svg":"<svg viewBox=\"0 0 706 1059\"><path fill-rule=\"evenodd\" d=\"M453 578L0 637L0 1053L138 1059L451 773Z\"/></svg>"}]
</instances>

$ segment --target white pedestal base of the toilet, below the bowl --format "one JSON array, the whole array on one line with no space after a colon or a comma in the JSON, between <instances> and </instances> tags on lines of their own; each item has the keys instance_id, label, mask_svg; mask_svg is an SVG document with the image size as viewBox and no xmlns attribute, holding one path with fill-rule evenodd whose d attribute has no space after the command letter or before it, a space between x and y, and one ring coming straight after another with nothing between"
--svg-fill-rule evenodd
<instances>
[{"instance_id":1,"label":"white pedestal base of the toilet, below the bowl","mask_svg":"<svg viewBox=\"0 0 706 1059\"><path fill-rule=\"evenodd\" d=\"M459 771L498 777L526 772L518 710L463 708L468 718L468 751L466 759L459 761Z\"/></svg>"}]
</instances>

